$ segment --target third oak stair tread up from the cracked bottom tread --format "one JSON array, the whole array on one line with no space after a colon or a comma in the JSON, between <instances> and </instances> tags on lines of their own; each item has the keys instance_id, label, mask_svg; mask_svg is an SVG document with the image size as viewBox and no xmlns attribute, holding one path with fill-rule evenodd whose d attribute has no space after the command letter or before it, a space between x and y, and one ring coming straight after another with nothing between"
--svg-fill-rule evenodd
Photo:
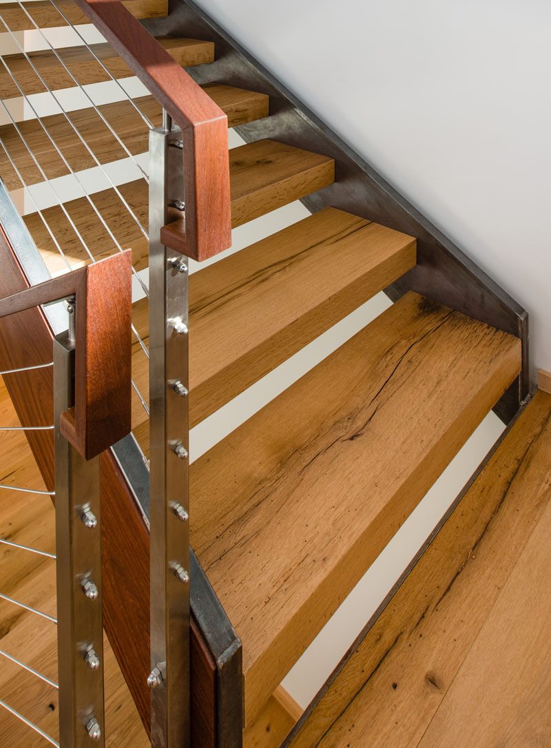
<instances>
[{"instance_id":1,"label":"third oak stair tread up from the cracked bottom tread","mask_svg":"<svg viewBox=\"0 0 551 748\"><path fill-rule=\"evenodd\" d=\"M262 144L272 144L272 141L261 141ZM273 143L268 147L273 159L278 159L278 153L286 165L286 182L288 189L280 189L281 165L279 162L258 162L259 149L256 143L239 146L230 150L230 182L232 189L232 213L234 207L238 212L237 223L250 221L298 197L305 197L310 192L325 186L333 180L334 164L332 159L318 156L315 153L292 148L280 143ZM238 153L236 153L238 152ZM294 153L295 152L295 153ZM295 161L293 160L295 155ZM244 167L246 165L246 167ZM248 183L247 183L248 180ZM148 226L148 187L144 180L135 180L119 187L120 193L132 207L142 226ZM91 196L93 203L111 227L117 240L123 248L132 248L132 263L136 269L147 267L148 243L138 224L129 212L123 208L119 197L113 189L96 192ZM243 203L250 200L251 212L248 215ZM96 260L117 251L113 240L102 226L97 215L90 209L90 203L85 197L77 197L64 203L64 207L76 224L77 229L87 242L88 248ZM43 210L44 218L48 221L52 232L58 238L71 266L78 267L90 261L78 237L64 215L60 206ZM234 224L237 225L236 221ZM46 265L52 275L67 272L67 266L55 247L51 236L44 227L38 213L25 215L25 224L34 238L37 247L43 254Z\"/></svg>"}]
</instances>

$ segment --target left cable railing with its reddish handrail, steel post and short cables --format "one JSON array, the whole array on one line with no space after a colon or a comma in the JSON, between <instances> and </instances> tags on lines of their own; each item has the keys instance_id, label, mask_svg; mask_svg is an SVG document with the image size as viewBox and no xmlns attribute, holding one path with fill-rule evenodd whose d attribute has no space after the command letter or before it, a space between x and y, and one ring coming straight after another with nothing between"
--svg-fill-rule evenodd
<instances>
[{"instance_id":1,"label":"left cable railing with its reddish handrail, steel post and short cables","mask_svg":"<svg viewBox=\"0 0 551 748\"><path fill-rule=\"evenodd\" d=\"M70 310L69 329L54 339L55 491L0 486L55 496L55 554L0 538L4 547L55 560L57 616L40 609L43 595L33 593L25 600L15 591L8 594L0 589L3 604L57 628L58 682L25 657L0 649L0 660L58 691L59 741L10 699L0 700L0 709L55 746L80 747L86 741L103 744L105 740L99 455L130 429L130 267L131 255L126 251L0 298L0 318L60 299L67 300ZM14 375L51 365L4 372ZM2 428L28 430L25 425ZM4 576L2 580L4 586L7 580Z\"/></svg>"}]
</instances>

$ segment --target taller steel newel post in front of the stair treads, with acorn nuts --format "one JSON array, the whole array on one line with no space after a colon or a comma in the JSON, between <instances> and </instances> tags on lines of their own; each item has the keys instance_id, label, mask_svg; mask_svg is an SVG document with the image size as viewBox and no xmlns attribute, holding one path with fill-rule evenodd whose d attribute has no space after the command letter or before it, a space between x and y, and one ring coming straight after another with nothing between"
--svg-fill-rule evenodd
<instances>
[{"instance_id":1,"label":"taller steel newel post in front of the stair treads, with acorn nuts","mask_svg":"<svg viewBox=\"0 0 551 748\"><path fill-rule=\"evenodd\" d=\"M182 215L182 132L150 132L151 742L190 743L188 262L161 227ZM176 213L175 213L176 212Z\"/></svg>"}]
</instances>

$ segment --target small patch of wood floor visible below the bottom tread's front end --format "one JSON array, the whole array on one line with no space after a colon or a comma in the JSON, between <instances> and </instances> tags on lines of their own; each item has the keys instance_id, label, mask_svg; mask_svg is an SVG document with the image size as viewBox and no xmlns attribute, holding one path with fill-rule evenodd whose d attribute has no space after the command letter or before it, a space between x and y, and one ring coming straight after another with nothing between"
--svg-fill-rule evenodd
<instances>
[{"instance_id":1,"label":"small patch of wood floor visible below the bottom tread's front end","mask_svg":"<svg viewBox=\"0 0 551 748\"><path fill-rule=\"evenodd\" d=\"M283 686L278 686L253 724L243 732L244 748L279 748L302 714Z\"/></svg>"}]
</instances>

